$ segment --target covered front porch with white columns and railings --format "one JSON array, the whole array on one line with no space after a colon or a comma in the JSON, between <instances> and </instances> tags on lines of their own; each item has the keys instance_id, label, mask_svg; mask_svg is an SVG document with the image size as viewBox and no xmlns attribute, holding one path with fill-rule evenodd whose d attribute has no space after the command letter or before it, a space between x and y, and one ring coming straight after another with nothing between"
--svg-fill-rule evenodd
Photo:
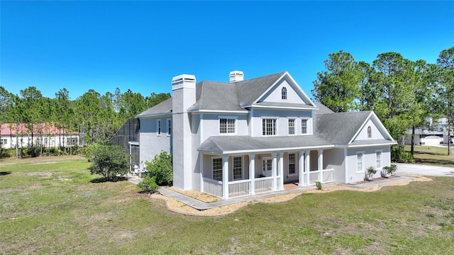
<instances>
[{"instance_id":1,"label":"covered front porch with white columns and railings","mask_svg":"<svg viewBox=\"0 0 454 255\"><path fill-rule=\"evenodd\" d=\"M223 199L283 191L288 182L311 186L333 181L333 169L323 167L323 149L200 153L201 192Z\"/></svg>"}]
</instances>

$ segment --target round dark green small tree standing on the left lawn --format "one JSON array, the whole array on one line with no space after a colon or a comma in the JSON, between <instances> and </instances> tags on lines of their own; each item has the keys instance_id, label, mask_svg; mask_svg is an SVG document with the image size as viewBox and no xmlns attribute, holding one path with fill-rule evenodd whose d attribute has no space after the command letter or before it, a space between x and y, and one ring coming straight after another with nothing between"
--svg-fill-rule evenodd
<instances>
[{"instance_id":1,"label":"round dark green small tree standing on the left lawn","mask_svg":"<svg viewBox=\"0 0 454 255\"><path fill-rule=\"evenodd\" d=\"M117 174L128 173L128 157L120 146L99 145L92 152L91 174L101 174L106 181L110 181Z\"/></svg>"}]
</instances>

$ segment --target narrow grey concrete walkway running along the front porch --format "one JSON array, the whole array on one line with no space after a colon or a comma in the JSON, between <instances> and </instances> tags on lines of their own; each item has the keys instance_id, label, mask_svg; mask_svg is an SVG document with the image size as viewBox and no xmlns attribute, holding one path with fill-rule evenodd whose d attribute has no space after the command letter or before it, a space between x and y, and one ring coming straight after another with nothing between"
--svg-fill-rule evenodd
<instances>
[{"instance_id":1,"label":"narrow grey concrete walkway running along the front porch","mask_svg":"<svg viewBox=\"0 0 454 255\"><path fill-rule=\"evenodd\" d=\"M397 182L397 181L411 180L411 179L414 179L414 177L397 176L396 178L392 178L392 179L384 179L384 180L380 180L380 181L370 181L367 183L358 183L358 184L342 184L341 186L348 186L350 188L360 189L360 188L370 188L372 186L379 186L384 183L393 183L393 182ZM328 187L336 186L336 185L339 185L339 184L338 183L326 183L326 184L323 184L323 187L328 188ZM248 202L248 201L252 201L252 200L258 200L261 198L272 198L275 196L287 195L289 193L300 193L300 192L304 192L304 191L311 191L314 189L315 189L315 186L298 187L298 188L293 188L288 191L276 191L276 192L263 193L263 194L258 194L258 195L243 196L240 198L229 198L227 200L221 200L221 201L214 202L214 203L204 203L200 200L190 198L189 196L185 196L181 193L171 191L170 189L164 188L164 187L161 187L158 190L158 192L163 196L167 196L169 198L175 199L175 200L177 200L181 203L184 203L186 205L189 205L192 208L195 208L197 210L207 210L207 209L217 208L217 207L224 206L224 205L232 205L235 203Z\"/></svg>"}]
</instances>

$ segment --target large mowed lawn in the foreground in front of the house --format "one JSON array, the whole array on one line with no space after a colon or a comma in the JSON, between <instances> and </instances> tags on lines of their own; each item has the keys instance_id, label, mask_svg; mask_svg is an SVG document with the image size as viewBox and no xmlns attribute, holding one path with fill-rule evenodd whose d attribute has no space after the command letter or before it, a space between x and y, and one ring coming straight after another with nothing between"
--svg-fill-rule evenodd
<instances>
[{"instance_id":1,"label":"large mowed lawn in the foreground in front of the house","mask_svg":"<svg viewBox=\"0 0 454 255\"><path fill-rule=\"evenodd\" d=\"M454 178L179 215L79 157L0 160L0 254L454 254Z\"/></svg>"}]
</instances>

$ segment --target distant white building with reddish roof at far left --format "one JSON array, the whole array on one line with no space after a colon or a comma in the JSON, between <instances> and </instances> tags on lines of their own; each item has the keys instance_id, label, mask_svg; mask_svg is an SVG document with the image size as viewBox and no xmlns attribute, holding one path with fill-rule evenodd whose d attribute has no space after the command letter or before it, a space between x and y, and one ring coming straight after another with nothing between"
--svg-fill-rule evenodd
<instances>
[{"instance_id":1,"label":"distant white building with reddish roof at far left","mask_svg":"<svg viewBox=\"0 0 454 255\"><path fill-rule=\"evenodd\" d=\"M0 144L4 149L43 145L44 147L67 147L79 145L79 134L57 128L53 124L33 124L33 128L21 123L1 124Z\"/></svg>"}]
</instances>

